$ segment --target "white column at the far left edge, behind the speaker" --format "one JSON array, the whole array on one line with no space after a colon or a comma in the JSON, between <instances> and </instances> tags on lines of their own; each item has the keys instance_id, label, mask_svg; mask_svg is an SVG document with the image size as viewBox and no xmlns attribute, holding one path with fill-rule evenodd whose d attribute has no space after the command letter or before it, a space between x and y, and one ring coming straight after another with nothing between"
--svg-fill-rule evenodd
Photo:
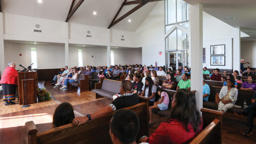
<instances>
[{"instance_id":1,"label":"white column at the far left edge, behind the speaker","mask_svg":"<svg viewBox=\"0 0 256 144\"><path fill-rule=\"evenodd\" d=\"M17 61L15 61L17 63ZM4 47L3 47L3 18L0 12L0 71L2 74L6 66L4 65Z\"/></svg>"}]
</instances>

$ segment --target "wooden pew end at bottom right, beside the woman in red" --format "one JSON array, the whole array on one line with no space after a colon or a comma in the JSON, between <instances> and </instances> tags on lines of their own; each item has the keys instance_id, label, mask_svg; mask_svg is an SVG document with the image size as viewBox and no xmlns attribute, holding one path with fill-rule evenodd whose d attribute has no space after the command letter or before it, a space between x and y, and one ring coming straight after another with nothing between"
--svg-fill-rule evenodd
<instances>
[{"instance_id":1,"label":"wooden pew end at bottom right, beside the woman in red","mask_svg":"<svg viewBox=\"0 0 256 144\"><path fill-rule=\"evenodd\" d=\"M190 144L221 144L222 116L224 112L202 108L203 130Z\"/></svg>"}]
</instances>

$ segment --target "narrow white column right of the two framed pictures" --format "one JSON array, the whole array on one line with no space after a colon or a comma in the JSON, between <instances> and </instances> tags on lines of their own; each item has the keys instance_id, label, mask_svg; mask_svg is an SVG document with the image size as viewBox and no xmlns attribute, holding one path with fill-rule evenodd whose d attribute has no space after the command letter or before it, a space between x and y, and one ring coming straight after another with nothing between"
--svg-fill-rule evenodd
<instances>
[{"instance_id":1,"label":"narrow white column right of the two framed pictures","mask_svg":"<svg viewBox=\"0 0 256 144\"><path fill-rule=\"evenodd\" d=\"M233 71L237 70L240 73L240 59L241 59L241 41L240 41L240 28L234 28L233 39ZM246 59L246 57L243 57Z\"/></svg>"}]
</instances>

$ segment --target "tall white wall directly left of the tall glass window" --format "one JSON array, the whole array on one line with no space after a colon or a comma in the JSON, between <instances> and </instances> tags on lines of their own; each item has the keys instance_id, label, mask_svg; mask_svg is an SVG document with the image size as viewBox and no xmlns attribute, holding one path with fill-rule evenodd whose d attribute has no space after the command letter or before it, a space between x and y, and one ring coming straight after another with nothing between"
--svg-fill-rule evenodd
<instances>
[{"instance_id":1,"label":"tall white wall directly left of the tall glass window","mask_svg":"<svg viewBox=\"0 0 256 144\"><path fill-rule=\"evenodd\" d=\"M142 64L154 65L157 61L158 66L165 65L164 34L164 1L158 1L135 31L134 42L142 47Z\"/></svg>"}]
</instances>

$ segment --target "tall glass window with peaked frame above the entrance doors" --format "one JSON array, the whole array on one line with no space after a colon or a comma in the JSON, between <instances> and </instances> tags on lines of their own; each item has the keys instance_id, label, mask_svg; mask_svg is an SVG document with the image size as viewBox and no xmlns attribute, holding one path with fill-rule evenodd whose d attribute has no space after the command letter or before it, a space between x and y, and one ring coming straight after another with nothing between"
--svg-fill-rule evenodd
<instances>
[{"instance_id":1,"label":"tall glass window with peaked frame above the entrance doors","mask_svg":"<svg viewBox=\"0 0 256 144\"><path fill-rule=\"evenodd\" d=\"M183 0L165 0L167 67L190 67L189 29L189 4Z\"/></svg>"}]
</instances>

